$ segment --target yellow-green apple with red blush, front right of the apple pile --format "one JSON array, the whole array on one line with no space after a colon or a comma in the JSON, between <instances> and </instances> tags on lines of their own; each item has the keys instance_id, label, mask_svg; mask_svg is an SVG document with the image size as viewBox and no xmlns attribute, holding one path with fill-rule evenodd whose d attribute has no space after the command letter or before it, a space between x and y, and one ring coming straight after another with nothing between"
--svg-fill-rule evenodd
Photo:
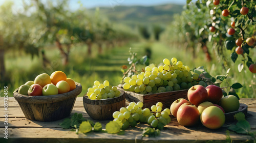
<instances>
[{"instance_id":1,"label":"yellow-green apple with red blush, front right of the apple pile","mask_svg":"<svg viewBox=\"0 0 256 143\"><path fill-rule=\"evenodd\" d=\"M225 115L217 106L204 109L200 116L202 124L209 129L218 129L225 123Z\"/></svg>"}]
</instances>

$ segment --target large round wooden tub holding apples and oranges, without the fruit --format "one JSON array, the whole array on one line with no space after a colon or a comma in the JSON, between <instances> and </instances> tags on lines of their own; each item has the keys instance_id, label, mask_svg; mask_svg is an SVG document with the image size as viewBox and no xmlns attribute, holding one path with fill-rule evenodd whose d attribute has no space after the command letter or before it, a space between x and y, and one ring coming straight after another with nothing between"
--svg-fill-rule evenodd
<instances>
[{"instance_id":1,"label":"large round wooden tub holding apples and oranges, without the fruit","mask_svg":"<svg viewBox=\"0 0 256 143\"><path fill-rule=\"evenodd\" d=\"M36 121L56 121L68 117L73 109L76 97L81 93L82 86L76 82L73 91L49 96L28 96L13 92L20 108L27 119Z\"/></svg>"}]
</instances>

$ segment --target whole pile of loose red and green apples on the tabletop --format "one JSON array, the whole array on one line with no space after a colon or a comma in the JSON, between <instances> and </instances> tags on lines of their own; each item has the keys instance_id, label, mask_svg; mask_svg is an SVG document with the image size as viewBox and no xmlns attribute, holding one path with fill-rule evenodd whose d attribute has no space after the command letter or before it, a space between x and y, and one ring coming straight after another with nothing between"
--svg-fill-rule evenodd
<instances>
[{"instance_id":1,"label":"whole pile of loose red and green apples on the tabletop","mask_svg":"<svg viewBox=\"0 0 256 143\"><path fill-rule=\"evenodd\" d=\"M186 99L177 99L170 105L170 111L183 126L193 126L198 122L209 128L218 129L225 123L224 113L237 111L240 107L236 96L223 96L216 85L195 85L187 92Z\"/></svg>"}]
</instances>

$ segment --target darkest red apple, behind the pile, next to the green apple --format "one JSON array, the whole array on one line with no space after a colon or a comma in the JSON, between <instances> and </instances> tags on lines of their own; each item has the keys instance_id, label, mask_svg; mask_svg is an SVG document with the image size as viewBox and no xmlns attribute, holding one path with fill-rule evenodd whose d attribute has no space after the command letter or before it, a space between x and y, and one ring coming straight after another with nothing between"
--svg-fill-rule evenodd
<instances>
[{"instance_id":1,"label":"darkest red apple, behind the pile, next to the green apple","mask_svg":"<svg viewBox=\"0 0 256 143\"><path fill-rule=\"evenodd\" d=\"M223 93L220 87L216 85L208 85L206 88L208 93L208 101L212 103L220 102Z\"/></svg>"}]
</instances>

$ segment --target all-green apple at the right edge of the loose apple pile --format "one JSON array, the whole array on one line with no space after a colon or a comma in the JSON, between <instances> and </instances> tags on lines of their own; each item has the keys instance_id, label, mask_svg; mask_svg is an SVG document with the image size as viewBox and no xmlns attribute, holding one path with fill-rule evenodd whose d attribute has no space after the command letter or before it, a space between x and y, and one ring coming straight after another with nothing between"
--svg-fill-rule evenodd
<instances>
[{"instance_id":1,"label":"all-green apple at the right edge of the loose apple pile","mask_svg":"<svg viewBox=\"0 0 256 143\"><path fill-rule=\"evenodd\" d=\"M240 107L238 98L233 95L222 97L220 101L220 105L226 113L237 111Z\"/></svg>"}]
</instances>

